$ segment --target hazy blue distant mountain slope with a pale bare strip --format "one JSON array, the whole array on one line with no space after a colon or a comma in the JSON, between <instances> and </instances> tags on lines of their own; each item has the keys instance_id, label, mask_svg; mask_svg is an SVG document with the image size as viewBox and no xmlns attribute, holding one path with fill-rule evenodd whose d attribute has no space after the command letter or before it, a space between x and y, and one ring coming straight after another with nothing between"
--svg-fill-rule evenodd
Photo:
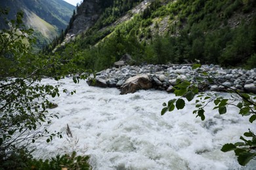
<instances>
[{"instance_id":1,"label":"hazy blue distant mountain slope with a pale bare strip","mask_svg":"<svg viewBox=\"0 0 256 170\"><path fill-rule=\"evenodd\" d=\"M20 0L0 1L2 9L9 8L9 19L18 10L24 11L24 24L35 30L37 50L49 44L54 37L66 29L75 7L62 0ZM0 29L7 25L1 21Z\"/></svg>"}]
</instances>

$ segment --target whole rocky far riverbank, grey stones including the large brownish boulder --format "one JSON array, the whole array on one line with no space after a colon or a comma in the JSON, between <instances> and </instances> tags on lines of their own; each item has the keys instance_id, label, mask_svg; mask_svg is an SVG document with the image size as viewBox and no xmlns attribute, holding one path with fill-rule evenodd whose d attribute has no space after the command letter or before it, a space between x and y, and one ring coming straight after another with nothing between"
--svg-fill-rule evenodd
<instances>
[{"instance_id":1,"label":"whole rocky far riverbank, grey stones including the large brownish boulder","mask_svg":"<svg viewBox=\"0 0 256 170\"><path fill-rule=\"evenodd\" d=\"M220 84L210 84L202 71L213 75ZM140 89L155 88L173 92L177 78L196 82L196 77L205 78L201 90L224 91L227 87L240 92L256 93L256 69L223 69L219 65L202 65L194 70L192 65L140 65L106 69L96 73L90 86L119 88L121 94L133 93Z\"/></svg>"}]
</instances>

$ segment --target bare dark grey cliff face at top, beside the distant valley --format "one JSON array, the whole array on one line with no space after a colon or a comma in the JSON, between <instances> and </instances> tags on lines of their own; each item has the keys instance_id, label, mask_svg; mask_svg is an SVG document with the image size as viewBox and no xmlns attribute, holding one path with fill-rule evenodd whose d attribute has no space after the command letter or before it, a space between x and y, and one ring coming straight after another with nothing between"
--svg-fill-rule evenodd
<instances>
[{"instance_id":1,"label":"bare dark grey cliff face at top, beside the distant valley","mask_svg":"<svg viewBox=\"0 0 256 170\"><path fill-rule=\"evenodd\" d=\"M69 33L77 34L80 31L86 31L95 24L101 12L102 9L98 0L84 0L77 9L73 27Z\"/></svg>"}]
</instances>

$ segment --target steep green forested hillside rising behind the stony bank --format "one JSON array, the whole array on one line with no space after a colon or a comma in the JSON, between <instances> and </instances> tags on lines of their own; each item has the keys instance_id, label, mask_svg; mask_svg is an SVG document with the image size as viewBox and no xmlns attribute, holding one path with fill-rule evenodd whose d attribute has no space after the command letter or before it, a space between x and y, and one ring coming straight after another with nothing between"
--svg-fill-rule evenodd
<instances>
[{"instance_id":1,"label":"steep green forested hillside rising behind the stony bank","mask_svg":"<svg viewBox=\"0 0 256 170\"><path fill-rule=\"evenodd\" d=\"M102 10L94 24L80 31L74 42L66 44L69 50L79 52L77 58L82 67L111 67L125 53L133 56L134 64L187 63L200 59L202 63L224 67L256 65L253 0L99 3ZM79 8L77 15L83 12ZM75 16L73 20L75 24ZM50 52L54 46L45 51Z\"/></svg>"}]
</instances>

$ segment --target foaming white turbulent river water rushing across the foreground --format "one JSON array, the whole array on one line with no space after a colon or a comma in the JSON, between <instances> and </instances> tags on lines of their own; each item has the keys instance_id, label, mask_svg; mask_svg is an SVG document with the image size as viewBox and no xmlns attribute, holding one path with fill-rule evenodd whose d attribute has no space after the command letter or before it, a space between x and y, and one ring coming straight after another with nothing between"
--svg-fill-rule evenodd
<instances>
[{"instance_id":1,"label":"foaming white turbulent river water rushing across the foreground","mask_svg":"<svg viewBox=\"0 0 256 170\"><path fill-rule=\"evenodd\" d=\"M43 83L56 83L45 79ZM85 81L74 84L72 78L58 82L62 93L53 102L58 112L50 129L62 131L63 139L46 143L45 139L34 152L36 157L47 158L56 153L91 156L94 169L254 169L256 161L241 167L234 152L221 152L224 143L239 141L248 128L249 117L229 108L228 114L219 115L206 109L201 121L192 114L194 103L183 110L161 116L162 103L175 95L156 90L141 90L119 95L116 88L95 88ZM225 95L225 94L223 94ZM66 135L69 125L73 138ZM252 128L253 127L253 128Z\"/></svg>"}]
</instances>

